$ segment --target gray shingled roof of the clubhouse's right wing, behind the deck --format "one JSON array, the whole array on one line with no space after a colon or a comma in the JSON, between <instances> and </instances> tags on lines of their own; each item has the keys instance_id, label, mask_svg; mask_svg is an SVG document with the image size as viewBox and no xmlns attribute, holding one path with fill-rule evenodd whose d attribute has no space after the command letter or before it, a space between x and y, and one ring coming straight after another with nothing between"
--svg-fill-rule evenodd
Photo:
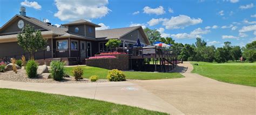
<instances>
[{"instance_id":1,"label":"gray shingled roof of the clubhouse's right wing, behind the deck","mask_svg":"<svg viewBox=\"0 0 256 115\"><path fill-rule=\"evenodd\" d=\"M107 30L96 30L96 38L97 39L119 39L125 35L127 35L128 33L139 29L140 33L142 33L142 36L145 39L145 42L147 42L147 44L150 44L149 39L146 37L142 26L131 26L131 27L127 27L127 28L118 28L118 29L107 29Z\"/></svg>"}]
</instances>

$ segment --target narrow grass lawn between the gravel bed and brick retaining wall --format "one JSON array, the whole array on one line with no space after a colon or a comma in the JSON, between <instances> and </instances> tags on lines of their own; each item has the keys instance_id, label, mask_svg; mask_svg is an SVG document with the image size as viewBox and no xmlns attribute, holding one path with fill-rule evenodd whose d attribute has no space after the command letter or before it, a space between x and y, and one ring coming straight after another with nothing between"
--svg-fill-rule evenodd
<instances>
[{"instance_id":1,"label":"narrow grass lawn between the gravel bed and brick retaining wall","mask_svg":"<svg viewBox=\"0 0 256 115\"><path fill-rule=\"evenodd\" d=\"M107 72L109 70L99 67L81 66L84 70L84 78L89 78L92 75L99 76L99 79L106 79ZM65 67L65 72L72 76L72 70L74 67ZM156 73L156 72L138 72L138 71L124 71L126 79L171 79L182 78L180 73Z\"/></svg>"}]
</instances>

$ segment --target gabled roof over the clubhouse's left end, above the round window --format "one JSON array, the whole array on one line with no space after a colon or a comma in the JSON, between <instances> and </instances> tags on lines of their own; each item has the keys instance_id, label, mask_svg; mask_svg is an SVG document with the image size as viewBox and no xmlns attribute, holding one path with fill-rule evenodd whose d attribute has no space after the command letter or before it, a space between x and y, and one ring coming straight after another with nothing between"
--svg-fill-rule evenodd
<instances>
[{"instance_id":1,"label":"gabled roof over the clubhouse's left end, above the round window","mask_svg":"<svg viewBox=\"0 0 256 115\"><path fill-rule=\"evenodd\" d=\"M8 25L11 24L11 22L14 22L16 21L16 19L18 18L23 18L35 25L38 25L38 26L41 26L42 28L48 30L48 31L52 31L53 34L55 35L64 35L66 31L68 31L67 28L57 28L56 26L52 26L52 25L49 25L49 24L46 24L42 21L39 21L38 19L36 18L32 18L32 17L28 17L28 16L22 16L22 15L15 15L14 17L12 17L7 23L5 23L1 28L0 28L0 31L2 29L5 29L7 28Z\"/></svg>"}]
</instances>

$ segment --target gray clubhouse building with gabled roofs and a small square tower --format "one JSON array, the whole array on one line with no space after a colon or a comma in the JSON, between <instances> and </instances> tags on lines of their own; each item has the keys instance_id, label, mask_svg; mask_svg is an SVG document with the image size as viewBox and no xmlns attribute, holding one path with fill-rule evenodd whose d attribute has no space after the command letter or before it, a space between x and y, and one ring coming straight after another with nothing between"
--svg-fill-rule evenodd
<instances>
[{"instance_id":1,"label":"gray clubhouse building with gabled roofs and a small square tower","mask_svg":"<svg viewBox=\"0 0 256 115\"><path fill-rule=\"evenodd\" d=\"M43 38L48 39L45 50L36 52L35 59L83 60L97 53L110 51L111 49L105 45L109 39L122 41L119 50L129 49L137 43L137 39L143 45L150 45L141 26L96 30L100 25L79 19L57 27L26 16L25 8L21 7L20 15L15 15L0 28L0 59L20 58L27 53L17 44L17 34L26 24L32 25L35 30L40 30Z\"/></svg>"}]
</instances>

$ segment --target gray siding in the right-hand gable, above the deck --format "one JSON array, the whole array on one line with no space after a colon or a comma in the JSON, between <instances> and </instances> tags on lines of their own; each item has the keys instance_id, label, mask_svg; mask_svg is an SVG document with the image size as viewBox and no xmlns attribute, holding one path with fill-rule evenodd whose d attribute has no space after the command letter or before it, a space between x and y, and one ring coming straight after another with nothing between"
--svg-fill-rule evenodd
<instances>
[{"instance_id":1,"label":"gray siding in the right-hand gable, above the deck","mask_svg":"<svg viewBox=\"0 0 256 115\"><path fill-rule=\"evenodd\" d=\"M140 43L146 45L146 42L144 40L146 38L143 38L142 33L140 33L140 31L138 34L138 31L139 31L138 29L134 30L134 31L128 33L127 35L121 37L121 39L132 40L134 43L137 43L137 39L139 38Z\"/></svg>"}]
</instances>

